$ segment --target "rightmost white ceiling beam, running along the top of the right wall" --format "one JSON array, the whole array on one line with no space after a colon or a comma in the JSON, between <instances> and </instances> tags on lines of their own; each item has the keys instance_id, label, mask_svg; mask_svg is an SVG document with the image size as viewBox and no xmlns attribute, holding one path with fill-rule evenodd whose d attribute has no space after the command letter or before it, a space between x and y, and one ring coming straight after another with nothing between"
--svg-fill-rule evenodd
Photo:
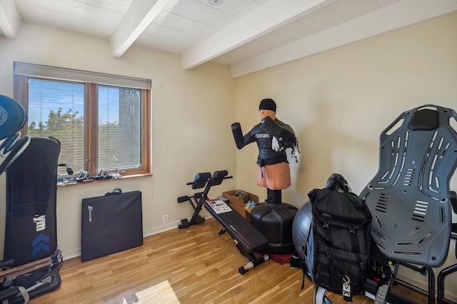
<instances>
[{"instance_id":1,"label":"rightmost white ceiling beam, running along the top of the right wall","mask_svg":"<svg viewBox=\"0 0 457 304\"><path fill-rule=\"evenodd\" d=\"M233 78L322 53L457 10L456 0L403 0L231 65Z\"/></svg>"}]
</instances>

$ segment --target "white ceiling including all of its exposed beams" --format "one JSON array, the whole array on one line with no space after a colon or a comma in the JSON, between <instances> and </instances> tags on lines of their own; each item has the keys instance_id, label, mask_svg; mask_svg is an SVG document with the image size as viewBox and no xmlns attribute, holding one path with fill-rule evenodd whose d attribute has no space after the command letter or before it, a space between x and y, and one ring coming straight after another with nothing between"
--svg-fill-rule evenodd
<instances>
[{"instance_id":1,"label":"white ceiling including all of its exposed beams","mask_svg":"<svg viewBox=\"0 0 457 304\"><path fill-rule=\"evenodd\" d=\"M216 2L213 5L210 2ZM0 0L0 36L39 24L242 76L457 11L457 0Z\"/></svg>"}]
</instances>

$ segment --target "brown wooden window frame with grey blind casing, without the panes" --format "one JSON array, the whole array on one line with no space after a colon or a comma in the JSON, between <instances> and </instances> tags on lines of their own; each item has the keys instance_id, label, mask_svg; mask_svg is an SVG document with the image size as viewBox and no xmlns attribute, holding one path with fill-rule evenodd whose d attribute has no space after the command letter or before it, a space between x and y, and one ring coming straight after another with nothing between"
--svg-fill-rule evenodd
<instances>
[{"instance_id":1,"label":"brown wooden window frame with grey blind casing, without the panes","mask_svg":"<svg viewBox=\"0 0 457 304\"><path fill-rule=\"evenodd\" d=\"M103 77L109 76L108 74L96 74L93 72L70 70L70 69L61 69L54 68L49 66L38 66L31 64L22 64L14 63L14 99L19 102L24 108L26 108L27 113L29 112L29 79L42 79L42 80L52 80L52 81L72 81L84 83L84 171L89 171L92 175L98 173L97 168L97 136L98 136L98 86L99 84L117 86L124 88L134 88L134 86L129 86L129 81L126 81L125 85L122 85L121 82L114 81L115 83L96 83L93 81L81 81L81 79L63 79L58 75L52 77L49 75L39 76L33 74L40 73L24 73L24 66L27 68L31 66L32 68L44 67L52 69L58 69L59 71L81 73L81 75L87 73L89 76L101 75ZM19 66L18 72L16 73L16 66ZM33 69L32 69L33 70ZM32 75L30 75L32 74ZM78 76L76 76L77 78ZM139 78L126 78L124 76L112 76L120 81L124 79L133 79L133 81L138 80ZM66 77L71 78L71 77ZM92 78L92 77L89 77ZM110 78L111 79L111 78ZM93 79L91 79L93 80ZM102 78L103 80L103 78ZM146 83L146 88L141 87L141 165L142 168L122 168L122 176L145 176L151 174L151 81L146 79L139 79ZM105 81L104 81L105 82ZM141 84L140 84L141 85ZM149 86L149 88L147 87ZM21 133L25 136L27 134L28 123L21 130ZM69 164L71 166L71 164Z\"/></svg>"}]
</instances>

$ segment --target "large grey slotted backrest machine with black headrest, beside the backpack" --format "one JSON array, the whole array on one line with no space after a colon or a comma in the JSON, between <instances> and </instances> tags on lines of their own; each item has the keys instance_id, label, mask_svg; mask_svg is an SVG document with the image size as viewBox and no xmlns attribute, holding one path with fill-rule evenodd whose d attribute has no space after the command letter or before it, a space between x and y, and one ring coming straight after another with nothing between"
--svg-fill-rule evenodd
<instances>
[{"instance_id":1,"label":"large grey slotted backrest machine with black headrest, beside the backpack","mask_svg":"<svg viewBox=\"0 0 457 304\"><path fill-rule=\"evenodd\" d=\"M457 196L449 190L457 168L457 130L451 124L456 121L457 113L451 108L425 105L401 113L381 133L378 173L360 195L373 217L373 241L388 260L384 265L384 260L378 263L372 255L379 282L368 278L366 292L375 297L375 304L416 303L391 290L393 283L428 296L428 304L435 303L432 268L443 265L451 238L457 239L457 223L452 223ZM310 215L310 211L303 213ZM309 227L311 217L299 216L302 225L296 227L301 230L294 233L303 231L301 237L307 237L303 227ZM428 275L428 290L396 278L399 266ZM456 264L438 274L438 303L454 303L444 298L444 280L455 272ZM313 303L329 303L325 291L315 290Z\"/></svg>"}]
</instances>

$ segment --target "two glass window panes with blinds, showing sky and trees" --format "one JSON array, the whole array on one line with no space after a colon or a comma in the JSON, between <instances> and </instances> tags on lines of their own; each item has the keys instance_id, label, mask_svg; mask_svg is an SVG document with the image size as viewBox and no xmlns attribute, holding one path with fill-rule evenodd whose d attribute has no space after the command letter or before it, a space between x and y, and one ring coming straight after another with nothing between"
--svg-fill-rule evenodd
<instances>
[{"instance_id":1,"label":"two glass window panes with blinds, showing sky and trees","mask_svg":"<svg viewBox=\"0 0 457 304\"><path fill-rule=\"evenodd\" d=\"M141 90L97 86L96 168L141 168ZM29 79L29 136L61 142L59 163L86 170L84 83ZM59 173L65 173L59 168ZM96 172L91 172L96 174Z\"/></svg>"}]
</instances>

